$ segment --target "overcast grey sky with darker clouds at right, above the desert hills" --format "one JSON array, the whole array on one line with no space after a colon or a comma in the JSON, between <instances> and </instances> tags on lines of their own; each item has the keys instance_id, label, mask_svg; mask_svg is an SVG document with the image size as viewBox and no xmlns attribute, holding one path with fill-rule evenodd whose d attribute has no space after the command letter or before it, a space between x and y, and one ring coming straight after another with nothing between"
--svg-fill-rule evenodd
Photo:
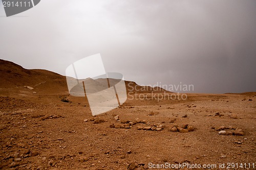
<instances>
[{"instance_id":1,"label":"overcast grey sky with darker clouds at right, above the desert hills","mask_svg":"<svg viewBox=\"0 0 256 170\"><path fill-rule=\"evenodd\" d=\"M42 0L6 17L0 58L65 75L101 54L107 72L140 85L200 93L256 91L256 1Z\"/></svg>"}]
</instances>

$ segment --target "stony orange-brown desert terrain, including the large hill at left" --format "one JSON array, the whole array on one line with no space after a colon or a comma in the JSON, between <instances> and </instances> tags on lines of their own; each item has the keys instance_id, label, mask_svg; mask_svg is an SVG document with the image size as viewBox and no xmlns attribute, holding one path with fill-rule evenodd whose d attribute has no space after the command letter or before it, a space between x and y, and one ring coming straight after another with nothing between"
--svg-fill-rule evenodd
<instances>
[{"instance_id":1,"label":"stony orange-brown desert terrain, including the large hill at left","mask_svg":"<svg viewBox=\"0 0 256 170\"><path fill-rule=\"evenodd\" d=\"M0 169L256 169L256 92L134 91L148 97L92 116L64 76L5 60L0 74Z\"/></svg>"}]
</instances>

